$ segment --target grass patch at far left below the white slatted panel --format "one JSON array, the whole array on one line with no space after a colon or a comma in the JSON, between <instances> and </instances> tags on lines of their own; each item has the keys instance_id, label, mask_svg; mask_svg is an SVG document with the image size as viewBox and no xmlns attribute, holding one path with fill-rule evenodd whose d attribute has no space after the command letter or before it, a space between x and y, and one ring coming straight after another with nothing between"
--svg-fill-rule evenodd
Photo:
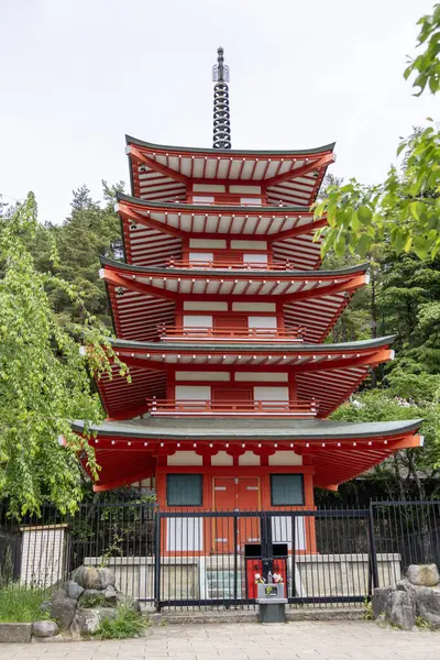
<instances>
[{"instance_id":1,"label":"grass patch at far left below the white slatted panel","mask_svg":"<svg viewBox=\"0 0 440 660\"><path fill-rule=\"evenodd\" d=\"M0 622L29 624L47 618L41 606L47 594L41 588L10 584L0 590Z\"/></svg>"}]
</instances>

